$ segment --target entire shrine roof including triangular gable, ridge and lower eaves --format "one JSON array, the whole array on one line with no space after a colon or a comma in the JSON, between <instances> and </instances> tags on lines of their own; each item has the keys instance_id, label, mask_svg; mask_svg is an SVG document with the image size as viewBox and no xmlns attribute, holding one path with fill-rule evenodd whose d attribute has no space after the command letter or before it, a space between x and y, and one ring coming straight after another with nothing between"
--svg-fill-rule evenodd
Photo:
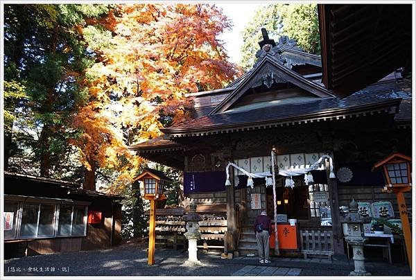
<instances>
[{"instance_id":1,"label":"entire shrine roof including triangular gable, ridge and lower eaves","mask_svg":"<svg viewBox=\"0 0 416 280\"><path fill-rule=\"evenodd\" d=\"M378 82L340 98L328 91L321 81L320 56L305 53L287 37L281 37L279 44L271 49L259 50L256 57L254 67L224 89L188 94L193 98L193 119L163 128L164 137L132 145L130 149L150 160L180 168L184 147L175 137L379 113L394 114L397 123L404 127L411 125L411 85L396 69Z\"/></svg>"}]
</instances>

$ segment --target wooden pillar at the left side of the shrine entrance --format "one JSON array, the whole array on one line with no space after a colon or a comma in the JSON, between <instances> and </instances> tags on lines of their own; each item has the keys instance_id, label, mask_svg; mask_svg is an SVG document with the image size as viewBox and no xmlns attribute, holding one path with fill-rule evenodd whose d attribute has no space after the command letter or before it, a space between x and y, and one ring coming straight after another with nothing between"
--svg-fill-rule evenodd
<instances>
[{"instance_id":1,"label":"wooden pillar at the left side of the shrine entrance","mask_svg":"<svg viewBox=\"0 0 416 280\"><path fill-rule=\"evenodd\" d=\"M235 235L237 231L237 225L234 193L234 170L232 168L229 168L229 181L231 182L231 186L225 186L225 191L227 193L227 231L229 231L229 234ZM231 240L235 240L235 238L231 238ZM224 242L227 243L227 238L224 238ZM236 250L235 244L227 244L224 247L229 251Z\"/></svg>"}]
</instances>

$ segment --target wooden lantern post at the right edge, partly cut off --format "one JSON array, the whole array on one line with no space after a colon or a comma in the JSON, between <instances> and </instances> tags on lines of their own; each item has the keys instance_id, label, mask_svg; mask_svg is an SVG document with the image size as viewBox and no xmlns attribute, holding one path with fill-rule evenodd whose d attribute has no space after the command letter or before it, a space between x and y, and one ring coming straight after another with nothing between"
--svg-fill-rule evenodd
<instances>
[{"instance_id":1,"label":"wooden lantern post at the right edge, partly cut off","mask_svg":"<svg viewBox=\"0 0 416 280\"><path fill-rule=\"evenodd\" d=\"M410 271L412 270L412 233L410 231L410 223L406 200L404 200L404 193L410 191L412 188L412 177L410 176L411 162L411 157L394 153L377 162L373 167L373 171L379 167L383 168L385 180L383 192L396 193L397 195L401 228L403 229L404 243L406 244L406 253L408 256Z\"/></svg>"}]
</instances>

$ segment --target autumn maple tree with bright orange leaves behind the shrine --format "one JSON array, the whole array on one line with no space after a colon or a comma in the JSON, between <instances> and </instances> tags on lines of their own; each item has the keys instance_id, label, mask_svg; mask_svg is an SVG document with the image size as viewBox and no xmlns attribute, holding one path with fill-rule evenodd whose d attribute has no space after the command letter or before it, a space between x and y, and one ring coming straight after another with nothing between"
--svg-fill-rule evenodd
<instances>
[{"instance_id":1,"label":"autumn maple tree with bright orange leaves behind the shrine","mask_svg":"<svg viewBox=\"0 0 416 280\"><path fill-rule=\"evenodd\" d=\"M218 35L230 24L208 4L120 5L82 29L96 64L87 71L88 94L73 115L73 145L88 169L114 168L131 180L140 164L127 145L161 134L189 117L185 94L218 89L239 74Z\"/></svg>"}]
</instances>

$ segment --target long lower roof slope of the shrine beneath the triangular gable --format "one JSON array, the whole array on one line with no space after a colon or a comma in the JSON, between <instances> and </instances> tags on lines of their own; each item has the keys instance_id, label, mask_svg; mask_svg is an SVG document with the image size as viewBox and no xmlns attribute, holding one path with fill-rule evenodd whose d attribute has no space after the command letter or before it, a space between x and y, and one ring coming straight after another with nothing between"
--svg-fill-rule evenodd
<instances>
[{"instance_id":1,"label":"long lower roof slope of the shrine beneath the triangular gable","mask_svg":"<svg viewBox=\"0 0 416 280\"><path fill-rule=\"evenodd\" d=\"M175 137L232 132L238 131L237 129L266 128L271 124L297 124L365 111L373 111L374 113L377 110L390 110L390 107L399 107L402 98L411 98L411 94L398 87L396 80L393 79L376 83L342 99L337 97L317 98L279 105L265 103L262 107L245 112L205 115L173 125L170 128L164 128L162 132ZM403 109L400 117L410 117L411 110L410 116L408 116L408 106L404 105Z\"/></svg>"}]
</instances>

